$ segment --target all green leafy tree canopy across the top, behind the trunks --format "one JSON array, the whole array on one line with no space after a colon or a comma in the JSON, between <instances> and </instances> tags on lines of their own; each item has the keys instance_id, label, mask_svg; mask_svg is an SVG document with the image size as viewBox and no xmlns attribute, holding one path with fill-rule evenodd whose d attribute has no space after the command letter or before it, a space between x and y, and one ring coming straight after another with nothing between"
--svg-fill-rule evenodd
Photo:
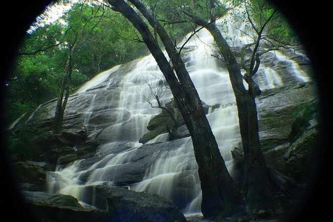
<instances>
[{"instance_id":1,"label":"all green leafy tree canopy across the top, behind the trunks","mask_svg":"<svg viewBox=\"0 0 333 222\"><path fill-rule=\"evenodd\" d=\"M62 2L68 3L60 1L59 4ZM164 26L175 44L178 44L187 33L198 28L189 21L182 10L187 9L207 21L212 15L207 5L210 2L208 0L143 0L142 2ZM244 7L244 0L214 2L215 15L232 8L230 5ZM263 0L246 2L252 20L258 25L274 10ZM101 1L73 3L71 9L55 22L35 25L26 33L13 74L4 83L7 88L8 123L25 112L32 112L40 103L59 95L68 48L81 29L82 32L77 39L78 48L73 59L70 82L72 90L98 72L148 53L146 46L138 37L137 30L121 14L115 13L106 4ZM150 29L153 32L154 28L150 26ZM281 42L295 38L280 13L276 13L265 31Z\"/></svg>"}]
</instances>

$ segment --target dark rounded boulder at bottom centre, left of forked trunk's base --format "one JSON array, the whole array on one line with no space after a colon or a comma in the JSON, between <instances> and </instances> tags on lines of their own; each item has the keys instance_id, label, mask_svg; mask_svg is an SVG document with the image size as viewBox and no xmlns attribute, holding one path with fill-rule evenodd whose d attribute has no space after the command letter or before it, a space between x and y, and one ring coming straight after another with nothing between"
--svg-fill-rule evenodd
<instances>
[{"instance_id":1,"label":"dark rounded boulder at bottom centre, left of forked trunk's base","mask_svg":"<svg viewBox=\"0 0 333 222\"><path fill-rule=\"evenodd\" d=\"M87 188L95 206L107 210L110 222L186 222L184 215L166 198L107 185Z\"/></svg>"}]
</instances>

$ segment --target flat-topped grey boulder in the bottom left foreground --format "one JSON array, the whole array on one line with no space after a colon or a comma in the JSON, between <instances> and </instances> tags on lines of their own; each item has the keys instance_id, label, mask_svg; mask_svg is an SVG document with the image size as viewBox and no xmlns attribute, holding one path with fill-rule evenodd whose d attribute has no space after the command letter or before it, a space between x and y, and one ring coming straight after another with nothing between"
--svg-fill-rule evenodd
<instances>
[{"instance_id":1,"label":"flat-topped grey boulder in the bottom left foreground","mask_svg":"<svg viewBox=\"0 0 333 222\"><path fill-rule=\"evenodd\" d=\"M52 222L108 222L106 211L82 207L78 200L69 195L45 192L23 192L30 212L36 221Z\"/></svg>"}]
</instances>

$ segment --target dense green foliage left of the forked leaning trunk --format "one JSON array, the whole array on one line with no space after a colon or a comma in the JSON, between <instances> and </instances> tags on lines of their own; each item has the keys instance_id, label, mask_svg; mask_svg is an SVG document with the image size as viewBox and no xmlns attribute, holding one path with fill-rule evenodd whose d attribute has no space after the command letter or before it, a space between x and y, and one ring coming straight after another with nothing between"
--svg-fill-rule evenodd
<instances>
[{"instance_id":1,"label":"dense green foliage left of the forked leaning trunk","mask_svg":"<svg viewBox=\"0 0 333 222\"><path fill-rule=\"evenodd\" d=\"M15 69L5 82L7 120L58 97L70 46L73 51L71 92L98 72L147 53L136 29L119 13L100 5L76 3L52 24L27 33Z\"/></svg>"}]
</instances>

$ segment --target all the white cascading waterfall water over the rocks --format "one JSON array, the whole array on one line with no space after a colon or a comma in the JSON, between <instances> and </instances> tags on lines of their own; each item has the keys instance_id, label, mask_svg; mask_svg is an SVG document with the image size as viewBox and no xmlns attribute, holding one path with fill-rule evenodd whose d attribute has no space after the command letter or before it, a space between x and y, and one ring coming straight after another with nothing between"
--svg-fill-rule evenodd
<instances>
[{"instance_id":1,"label":"all the white cascading waterfall water over the rocks","mask_svg":"<svg viewBox=\"0 0 333 222\"><path fill-rule=\"evenodd\" d=\"M231 17L227 16L230 20ZM224 33L231 33L234 38L228 39L229 44L240 48L249 43L251 38L242 35L239 28L228 26L219 28ZM182 43L180 43L181 45ZM208 121L218 143L220 153L223 156L228 171L233 172L233 159L231 150L240 142L238 111L235 96L231 87L229 74L221 61L213 57L213 37L205 29L199 31L186 45L184 55L185 65L190 77L198 91L200 99L205 103L213 105L207 114ZM262 59L261 68L258 71L256 81L261 89L269 89L283 85L279 70L275 70L270 61L275 57L275 63L283 63L290 67L288 72L296 76L295 81L309 80L305 73L302 73L295 62L280 52L267 53ZM77 93L84 94L98 90L112 88L116 77L113 73L119 71L121 66L114 67L97 75L93 80L82 86ZM115 116L115 123L107 126L102 131L92 132L90 137L97 137L101 142L97 156L98 160L87 168L80 167L81 161L75 161L66 168L59 168L55 173L49 173L49 191L62 194L70 194L80 201L94 204L94 200L85 197L85 187L94 184L107 182L113 184L120 169L128 166L134 156L140 151L139 139L147 132L146 126L149 120L161 110L151 108L143 98L143 94L153 101L149 93L149 87L143 79L159 81L154 76L161 75L161 72L151 55L138 60L129 72L123 73L117 84L120 87L119 101L117 104L106 105L106 109L112 111ZM99 87L102 85L103 87ZM90 91L87 91L90 90ZM165 104L172 98L169 91L161 99ZM90 106L84 112L83 125L91 124L95 112L100 107L95 106L99 94L90 96ZM97 115L97 114L96 114ZM88 130L88 132L91 132ZM171 199L178 207L187 214L200 213L201 189L197 173L192 143L190 137L167 142L168 134L160 134L148 141L146 146L161 143L159 149L154 151L153 161L147 167L140 182L128 184L132 190L147 191L160 194ZM163 146L163 144L169 144ZM86 176L87 175L87 176ZM82 182L82 178L86 179Z\"/></svg>"}]
</instances>

